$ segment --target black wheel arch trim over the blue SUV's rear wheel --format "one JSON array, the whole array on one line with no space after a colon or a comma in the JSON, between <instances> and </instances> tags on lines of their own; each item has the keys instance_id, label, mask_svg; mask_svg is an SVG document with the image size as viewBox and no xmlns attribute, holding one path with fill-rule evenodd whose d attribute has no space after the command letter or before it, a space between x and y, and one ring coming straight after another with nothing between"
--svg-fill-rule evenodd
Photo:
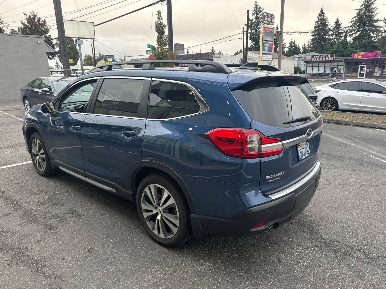
<instances>
[{"instance_id":1,"label":"black wheel arch trim over the blue SUV's rear wheel","mask_svg":"<svg viewBox=\"0 0 386 289\"><path fill-rule=\"evenodd\" d=\"M146 176L150 175L151 173L165 173L169 175L171 178L173 178L179 187L181 188L182 192L184 193L184 196L186 198L186 202L188 202L189 209L191 213L196 212L195 205L193 203L193 199L191 197L190 191L188 187L186 187L185 182L181 179L181 177L168 166L158 163L156 161L137 161L132 165L129 172L129 190L133 192L133 200L135 202L135 198L137 195L137 188L139 186L139 183L145 178Z\"/></svg>"}]
</instances>

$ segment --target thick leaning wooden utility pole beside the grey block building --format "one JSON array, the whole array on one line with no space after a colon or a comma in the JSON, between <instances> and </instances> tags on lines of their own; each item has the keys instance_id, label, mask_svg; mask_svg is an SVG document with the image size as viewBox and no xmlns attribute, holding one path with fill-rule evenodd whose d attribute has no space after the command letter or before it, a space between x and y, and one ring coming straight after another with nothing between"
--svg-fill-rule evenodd
<instances>
[{"instance_id":1,"label":"thick leaning wooden utility pole beside the grey block building","mask_svg":"<svg viewBox=\"0 0 386 289\"><path fill-rule=\"evenodd\" d=\"M62 5L60 3L60 0L53 0L53 1L54 1L54 10L55 10L55 18L56 18L56 27L58 27L59 49L60 49L60 56L62 58L63 73L64 73L64 76L71 76L70 62L68 58L68 50L67 50L67 42L66 42L66 34L64 33Z\"/></svg>"}]
</instances>

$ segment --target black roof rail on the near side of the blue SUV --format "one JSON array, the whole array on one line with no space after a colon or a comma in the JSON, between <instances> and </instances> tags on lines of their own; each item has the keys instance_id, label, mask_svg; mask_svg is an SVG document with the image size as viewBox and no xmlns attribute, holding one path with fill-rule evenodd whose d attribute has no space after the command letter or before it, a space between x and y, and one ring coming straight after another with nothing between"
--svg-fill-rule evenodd
<instances>
[{"instance_id":1,"label":"black roof rail on the near side of the blue SUV","mask_svg":"<svg viewBox=\"0 0 386 289\"><path fill-rule=\"evenodd\" d=\"M188 64L189 71L201 71L201 72L217 72L217 73L231 73L230 70L225 64L212 61L212 60L183 60L183 59L162 59L162 60L134 60L134 61L123 61L123 62L113 62L108 64L98 65L86 73L97 72L97 71L109 71L112 70L114 65L138 65L142 64L142 69L151 70L154 69L154 64L156 63L168 63L168 64Z\"/></svg>"}]
</instances>

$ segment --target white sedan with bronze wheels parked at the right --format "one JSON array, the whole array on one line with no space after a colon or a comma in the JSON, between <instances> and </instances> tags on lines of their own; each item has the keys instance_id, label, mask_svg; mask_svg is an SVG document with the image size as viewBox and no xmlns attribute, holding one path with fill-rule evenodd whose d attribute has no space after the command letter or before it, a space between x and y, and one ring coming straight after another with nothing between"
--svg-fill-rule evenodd
<instances>
[{"instance_id":1,"label":"white sedan with bronze wheels parked at the right","mask_svg":"<svg viewBox=\"0 0 386 289\"><path fill-rule=\"evenodd\" d=\"M315 87L317 106L324 110L386 113L386 81L347 79Z\"/></svg>"}]
</instances>

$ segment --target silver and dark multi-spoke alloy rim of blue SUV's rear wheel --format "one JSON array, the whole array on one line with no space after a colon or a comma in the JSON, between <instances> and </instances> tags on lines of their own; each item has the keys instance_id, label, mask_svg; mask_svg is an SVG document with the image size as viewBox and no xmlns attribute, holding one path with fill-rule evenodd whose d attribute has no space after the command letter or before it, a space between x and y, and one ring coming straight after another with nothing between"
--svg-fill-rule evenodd
<instances>
[{"instance_id":1,"label":"silver and dark multi-spoke alloy rim of blue SUV's rear wheel","mask_svg":"<svg viewBox=\"0 0 386 289\"><path fill-rule=\"evenodd\" d=\"M179 213L173 196L161 185L151 184L142 192L142 214L157 236L169 239L179 226Z\"/></svg>"}]
</instances>

